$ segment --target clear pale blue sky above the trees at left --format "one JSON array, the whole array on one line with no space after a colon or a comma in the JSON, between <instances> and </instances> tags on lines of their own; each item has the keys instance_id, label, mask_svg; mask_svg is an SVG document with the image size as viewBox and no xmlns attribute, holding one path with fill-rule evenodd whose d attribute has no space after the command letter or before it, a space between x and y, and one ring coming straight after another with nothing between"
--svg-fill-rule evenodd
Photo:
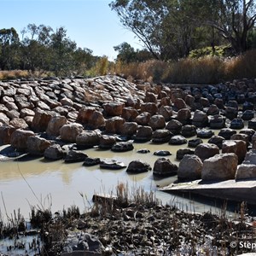
<instances>
[{"instance_id":1,"label":"clear pale blue sky above the trees at left","mask_svg":"<svg viewBox=\"0 0 256 256\"><path fill-rule=\"evenodd\" d=\"M127 42L141 49L142 45L120 24L108 3L111 0L0 0L0 28L14 27L20 34L29 23L44 24L54 30L64 26L67 37L79 47L113 60L117 54L113 46Z\"/></svg>"}]
</instances>

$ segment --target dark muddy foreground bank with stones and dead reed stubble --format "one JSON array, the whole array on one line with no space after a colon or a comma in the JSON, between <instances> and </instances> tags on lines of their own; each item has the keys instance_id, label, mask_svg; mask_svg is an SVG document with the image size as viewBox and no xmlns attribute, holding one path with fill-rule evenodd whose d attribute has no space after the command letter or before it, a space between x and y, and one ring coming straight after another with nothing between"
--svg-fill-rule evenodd
<instances>
[{"instance_id":1,"label":"dark muddy foreground bank with stones and dead reed stubble","mask_svg":"<svg viewBox=\"0 0 256 256\"><path fill-rule=\"evenodd\" d=\"M9 231L4 230L8 225L2 226L0 232L2 238L12 237L16 246L15 238L23 236L27 255L238 255L251 253L252 248L240 244L255 239L255 221L245 204L235 218L226 215L225 207L218 215L180 211L163 206L153 192L129 191L124 183L111 196L95 196L84 213L75 206L55 213L33 208L31 216L33 230L27 231L22 218L15 218L16 225L9 225ZM34 240L26 243L29 236ZM6 255L11 253L15 246Z\"/></svg>"}]
</instances>

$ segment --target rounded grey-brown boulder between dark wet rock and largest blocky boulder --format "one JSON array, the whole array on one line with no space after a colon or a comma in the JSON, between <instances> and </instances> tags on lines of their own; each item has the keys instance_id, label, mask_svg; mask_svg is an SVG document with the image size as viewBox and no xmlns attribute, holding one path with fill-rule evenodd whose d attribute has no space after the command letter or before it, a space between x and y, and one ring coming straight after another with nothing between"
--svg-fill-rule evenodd
<instances>
[{"instance_id":1,"label":"rounded grey-brown boulder between dark wet rock and largest blocky boulder","mask_svg":"<svg viewBox=\"0 0 256 256\"><path fill-rule=\"evenodd\" d=\"M195 154L185 154L177 168L178 179L199 179L201 178L201 170L203 163Z\"/></svg>"}]
</instances>

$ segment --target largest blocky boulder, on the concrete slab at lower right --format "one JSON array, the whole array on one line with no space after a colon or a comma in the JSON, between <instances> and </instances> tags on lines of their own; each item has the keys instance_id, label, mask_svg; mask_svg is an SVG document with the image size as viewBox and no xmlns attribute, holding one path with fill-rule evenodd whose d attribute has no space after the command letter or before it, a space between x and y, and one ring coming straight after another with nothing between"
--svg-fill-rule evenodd
<instances>
[{"instance_id":1,"label":"largest blocky boulder, on the concrete slab at lower right","mask_svg":"<svg viewBox=\"0 0 256 256\"><path fill-rule=\"evenodd\" d=\"M216 154L204 161L201 179L203 181L234 179L237 163L238 159L234 153Z\"/></svg>"}]
</instances>

